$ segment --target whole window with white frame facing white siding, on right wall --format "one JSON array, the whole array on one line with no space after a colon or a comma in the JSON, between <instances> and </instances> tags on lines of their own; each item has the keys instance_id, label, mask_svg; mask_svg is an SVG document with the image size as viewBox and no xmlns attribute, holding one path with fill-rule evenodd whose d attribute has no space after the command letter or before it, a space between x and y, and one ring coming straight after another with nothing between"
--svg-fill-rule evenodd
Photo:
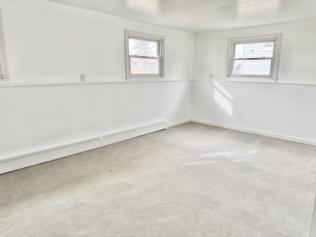
<instances>
[{"instance_id":1,"label":"whole window with white frame facing white siding, on right wall","mask_svg":"<svg viewBox=\"0 0 316 237\"><path fill-rule=\"evenodd\" d=\"M227 77L276 80L281 36L230 38Z\"/></svg>"}]
</instances>

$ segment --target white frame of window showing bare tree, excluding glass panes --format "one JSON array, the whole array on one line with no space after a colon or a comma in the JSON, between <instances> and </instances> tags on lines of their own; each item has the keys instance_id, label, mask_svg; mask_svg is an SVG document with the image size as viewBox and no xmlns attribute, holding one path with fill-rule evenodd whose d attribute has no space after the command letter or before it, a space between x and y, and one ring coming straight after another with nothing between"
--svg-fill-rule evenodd
<instances>
[{"instance_id":1,"label":"white frame of window showing bare tree, excluding glass panes","mask_svg":"<svg viewBox=\"0 0 316 237\"><path fill-rule=\"evenodd\" d=\"M158 43L157 57L150 56L137 56L129 55L129 43L128 39L136 40L148 40L155 41ZM159 72L158 74L131 74L131 61L130 58L149 58L158 59L159 61ZM127 30L125 29L125 59L126 59L126 79L132 80L151 80L151 79L162 79L164 78L164 36L159 36L155 34L149 34L139 31Z\"/></svg>"}]
</instances>

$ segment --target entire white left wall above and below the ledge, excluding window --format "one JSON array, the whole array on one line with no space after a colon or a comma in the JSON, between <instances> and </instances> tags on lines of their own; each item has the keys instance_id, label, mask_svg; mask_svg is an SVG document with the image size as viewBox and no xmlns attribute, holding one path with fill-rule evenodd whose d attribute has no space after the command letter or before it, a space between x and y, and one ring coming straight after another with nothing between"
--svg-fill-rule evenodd
<instances>
[{"instance_id":1,"label":"entire white left wall above and below the ledge, excluding window","mask_svg":"<svg viewBox=\"0 0 316 237\"><path fill-rule=\"evenodd\" d=\"M193 33L46 0L0 6L11 79L0 85L0 158L190 118ZM165 36L165 80L177 81L123 82L125 28ZM80 83L81 73L101 83L20 86Z\"/></svg>"}]
</instances>

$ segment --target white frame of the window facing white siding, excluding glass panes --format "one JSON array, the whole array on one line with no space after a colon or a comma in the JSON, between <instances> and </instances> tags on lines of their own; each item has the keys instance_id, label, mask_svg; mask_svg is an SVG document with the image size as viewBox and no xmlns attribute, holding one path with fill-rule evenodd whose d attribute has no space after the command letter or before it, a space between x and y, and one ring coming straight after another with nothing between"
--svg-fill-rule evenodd
<instances>
[{"instance_id":1,"label":"white frame of the window facing white siding, excluding glass panes","mask_svg":"<svg viewBox=\"0 0 316 237\"><path fill-rule=\"evenodd\" d=\"M227 57L227 71L226 79L235 79L235 80L258 80L258 81L276 81L278 64L280 58L280 48L281 48L281 39L282 34L271 34L271 35L262 35L262 36L247 36L247 37L234 37L228 39L228 57ZM260 43L266 41L273 41L273 55L272 57L264 58L234 58L235 54L235 45L237 43ZM269 75L236 75L233 74L233 66L235 60L262 60L262 59L271 59L271 67Z\"/></svg>"}]
</instances>

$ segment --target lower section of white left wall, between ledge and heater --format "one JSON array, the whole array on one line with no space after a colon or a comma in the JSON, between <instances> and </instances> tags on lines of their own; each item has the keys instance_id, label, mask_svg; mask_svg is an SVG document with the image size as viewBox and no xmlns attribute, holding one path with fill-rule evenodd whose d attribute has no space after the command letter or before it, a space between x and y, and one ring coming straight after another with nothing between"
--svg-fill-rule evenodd
<instances>
[{"instance_id":1,"label":"lower section of white left wall, between ledge and heater","mask_svg":"<svg viewBox=\"0 0 316 237\"><path fill-rule=\"evenodd\" d=\"M0 87L0 158L190 118L191 81Z\"/></svg>"}]
</instances>

